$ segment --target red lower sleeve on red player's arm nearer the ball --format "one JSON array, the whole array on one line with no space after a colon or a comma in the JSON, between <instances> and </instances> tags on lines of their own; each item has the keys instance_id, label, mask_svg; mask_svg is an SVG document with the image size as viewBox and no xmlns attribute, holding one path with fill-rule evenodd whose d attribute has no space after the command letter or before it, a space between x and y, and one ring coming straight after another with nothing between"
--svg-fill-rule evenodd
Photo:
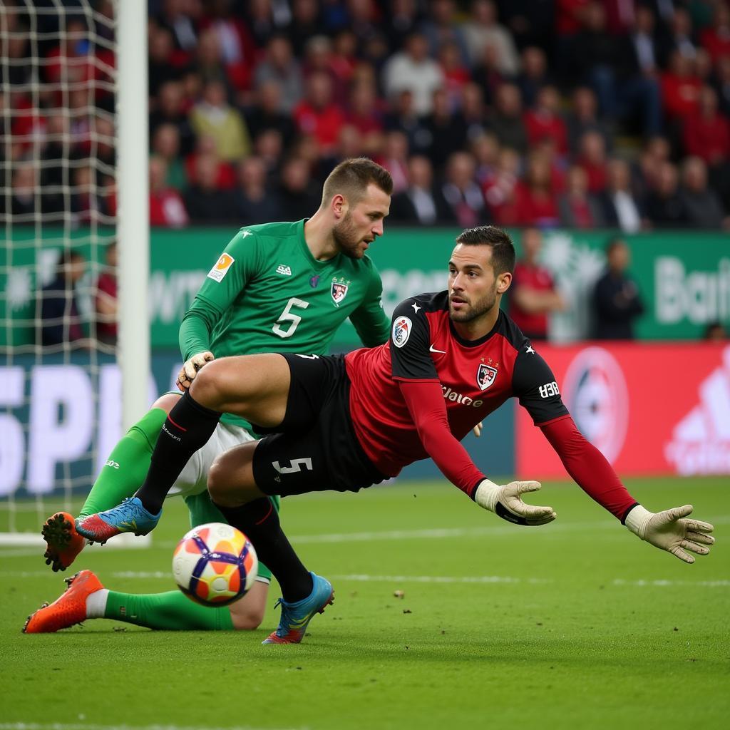
<instances>
[{"instance_id":1,"label":"red lower sleeve on red player's arm nearer the ball","mask_svg":"<svg viewBox=\"0 0 730 730\"><path fill-rule=\"evenodd\" d=\"M449 429L441 385L413 380L398 385L423 448L447 480L474 499L485 476Z\"/></svg>"}]
</instances>

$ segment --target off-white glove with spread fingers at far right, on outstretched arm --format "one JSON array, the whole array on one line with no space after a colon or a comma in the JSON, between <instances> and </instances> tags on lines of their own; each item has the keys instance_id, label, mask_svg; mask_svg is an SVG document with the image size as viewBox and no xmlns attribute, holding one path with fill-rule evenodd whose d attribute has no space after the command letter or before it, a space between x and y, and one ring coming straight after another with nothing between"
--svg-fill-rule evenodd
<instances>
[{"instance_id":1,"label":"off-white glove with spread fingers at far right, on outstretched arm","mask_svg":"<svg viewBox=\"0 0 730 730\"><path fill-rule=\"evenodd\" d=\"M709 522L686 520L692 510L691 504L685 504L684 507L672 507L655 514L637 504L626 517L626 527L655 548L666 550L685 563L694 563L694 557L687 550L707 555L710 548L705 545L715 542L715 538L707 533L715 528Z\"/></svg>"}]
</instances>

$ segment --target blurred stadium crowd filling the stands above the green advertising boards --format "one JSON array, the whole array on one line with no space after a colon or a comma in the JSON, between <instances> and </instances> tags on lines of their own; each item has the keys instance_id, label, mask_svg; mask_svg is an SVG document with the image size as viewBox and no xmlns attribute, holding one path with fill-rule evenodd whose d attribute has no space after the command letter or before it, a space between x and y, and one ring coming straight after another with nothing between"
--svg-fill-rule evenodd
<instances>
[{"instance_id":1,"label":"blurred stadium crowd filling the stands above the green advertising boards","mask_svg":"<svg viewBox=\"0 0 730 730\"><path fill-rule=\"evenodd\" d=\"M368 155L393 175L393 222L730 228L726 0L149 7L155 226L303 218L337 162ZM0 123L19 141L2 150L0 207L53 215L70 185L83 223L115 213L113 55L106 26L68 12L37 66L20 62L35 50L22 4L4 21L19 62L0 68ZM82 82L66 114L60 74Z\"/></svg>"}]
</instances>

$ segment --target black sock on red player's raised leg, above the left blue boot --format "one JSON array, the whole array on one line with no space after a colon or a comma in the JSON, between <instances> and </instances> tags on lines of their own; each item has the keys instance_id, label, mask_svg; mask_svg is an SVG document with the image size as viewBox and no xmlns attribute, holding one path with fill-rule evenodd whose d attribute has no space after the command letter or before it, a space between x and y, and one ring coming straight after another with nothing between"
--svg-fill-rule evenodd
<instances>
[{"instance_id":1,"label":"black sock on red player's raised leg, above the left blue boot","mask_svg":"<svg viewBox=\"0 0 730 730\"><path fill-rule=\"evenodd\" d=\"M135 494L145 510L156 515L162 509L174 480L191 456L210 439L218 420L218 411L196 403L188 391L183 393L162 425L147 478Z\"/></svg>"}]
</instances>

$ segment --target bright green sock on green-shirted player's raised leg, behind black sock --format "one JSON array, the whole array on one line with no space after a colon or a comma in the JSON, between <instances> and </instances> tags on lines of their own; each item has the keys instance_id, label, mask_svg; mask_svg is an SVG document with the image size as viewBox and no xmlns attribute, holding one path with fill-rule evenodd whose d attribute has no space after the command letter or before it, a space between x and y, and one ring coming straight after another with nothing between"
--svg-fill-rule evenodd
<instances>
[{"instance_id":1,"label":"bright green sock on green-shirted player's raised leg, behind black sock","mask_svg":"<svg viewBox=\"0 0 730 730\"><path fill-rule=\"evenodd\" d=\"M111 510L139 489L166 418L164 410L153 408L127 431L102 467L79 517Z\"/></svg>"}]
</instances>

